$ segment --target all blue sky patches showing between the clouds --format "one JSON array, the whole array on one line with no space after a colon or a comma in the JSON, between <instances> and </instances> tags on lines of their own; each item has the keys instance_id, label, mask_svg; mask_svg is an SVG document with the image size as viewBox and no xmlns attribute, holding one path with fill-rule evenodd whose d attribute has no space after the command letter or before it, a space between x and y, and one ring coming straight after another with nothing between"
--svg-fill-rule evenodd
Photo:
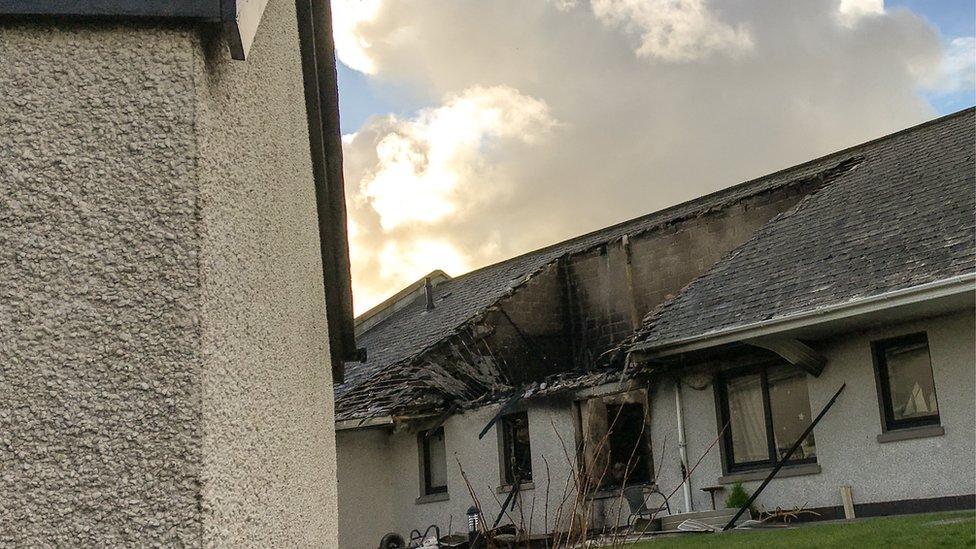
<instances>
[{"instance_id":1,"label":"all blue sky patches showing between the clouds","mask_svg":"<svg viewBox=\"0 0 976 549\"><path fill-rule=\"evenodd\" d=\"M957 37L976 35L976 2L973 0L887 0L888 9L906 8L920 14L935 25L948 41ZM356 131L374 114L407 115L425 107L408 91L373 81L367 75L338 63L339 110L342 133ZM951 94L923 96L939 114L948 114L972 106L972 90Z\"/></svg>"}]
</instances>

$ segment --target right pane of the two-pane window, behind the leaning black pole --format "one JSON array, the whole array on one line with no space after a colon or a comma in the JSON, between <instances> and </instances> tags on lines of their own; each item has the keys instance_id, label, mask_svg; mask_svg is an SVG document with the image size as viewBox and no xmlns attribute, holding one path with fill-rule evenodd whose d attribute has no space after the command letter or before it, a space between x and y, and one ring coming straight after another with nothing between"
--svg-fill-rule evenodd
<instances>
[{"instance_id":1,"label":"right pane of the two-pane window, behind the leaning black pole","mask_svg":"<svg viewBox=\"0 0 976 549\"><path fill-rule=\"evenodd\" d=\"M810 395L806 375L794 366L772 366L767 370L769 407L773 416L773 441L777 459L782 459L810 425ZM817 456L813 433L793 454L792 459Z\"/></svg>"}]
</instances>

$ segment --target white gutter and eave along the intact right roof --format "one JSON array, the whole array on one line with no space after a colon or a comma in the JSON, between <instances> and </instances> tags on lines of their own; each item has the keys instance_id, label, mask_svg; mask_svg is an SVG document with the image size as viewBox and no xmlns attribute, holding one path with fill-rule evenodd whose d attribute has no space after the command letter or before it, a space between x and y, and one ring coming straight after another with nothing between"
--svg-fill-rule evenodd
<instances>
[{"instance_id":1,"label":"white gutter and eave along the intact right roof","mask_svg":"<svg viewBox=\"0 0 976 549\"><path fill-rule=\"evenodd\" d=\"M747 339L782 334L818 324L853 318L895 307L958 296L974 291L976 291L976 273L967 273L779 318L743 324L725 330L661 343L639 343L633 345L628 350L628 353L636 361L646 361L691 351L700 351Z\"/></svg>"}]
</instances>

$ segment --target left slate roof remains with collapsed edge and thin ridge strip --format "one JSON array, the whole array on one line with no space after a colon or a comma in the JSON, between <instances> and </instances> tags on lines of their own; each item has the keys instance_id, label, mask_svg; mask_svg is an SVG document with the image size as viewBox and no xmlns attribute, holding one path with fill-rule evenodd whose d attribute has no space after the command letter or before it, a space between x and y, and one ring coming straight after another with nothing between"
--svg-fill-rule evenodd
<instances>
[{"instance_id":1,"label":"left slate roof remains with collapsed edge and thin ridge strip","mask_svg":"<svg viewBox=\"0 0 976 549\"><path fill-rule=\"evenodd\" d=\"M972 111L967 112L956 116L968 120L971 129ZM891 159L894 151L904 154L906 149L911 149L913 141L917 139L916 134L929 135L926 128L941 127L953 119L948 117L903 130L444 282L434 288L435 308L432 311L425 311L424 299L418 296L414 302L361 334L358 342L366 347L368 360L346 365L345 383L335 388L336 418L379 417L396 413L398 403L413 401L433 405L439 401L445 394L439 387L449 382L445 380L449 374L433 372L431 369L435 367L419 364L417 359L439 342L458 333L467 323L479 318L489 307L560 257L593 249L624 235L633 236L660 229L751 196L807 181L811 177L822 177L838 167L849 167L860 156L875 161ZM969 145L971 149L971 139ZM971 150L969 152L971 154ZM877 169L884 171L883 167ZM860 169L852 173L858 172Z\"/></svg>"}]
</instances>

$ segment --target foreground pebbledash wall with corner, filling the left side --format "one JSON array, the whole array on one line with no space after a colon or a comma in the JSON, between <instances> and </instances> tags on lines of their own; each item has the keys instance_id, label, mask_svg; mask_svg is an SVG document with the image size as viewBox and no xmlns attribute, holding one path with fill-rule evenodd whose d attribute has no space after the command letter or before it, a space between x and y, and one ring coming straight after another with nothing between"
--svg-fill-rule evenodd
<instances>
[{"instance_id":1,"label":"foreground pebbledash wall with corner, filling the left side","mask_svg":"<svg viewBox=\"0 0 976 549\"><path fill-rule=\"evenodd\" d=\"M0 23L0 545L337 545L294 9Z\"/></svg>"}]
</instances>

